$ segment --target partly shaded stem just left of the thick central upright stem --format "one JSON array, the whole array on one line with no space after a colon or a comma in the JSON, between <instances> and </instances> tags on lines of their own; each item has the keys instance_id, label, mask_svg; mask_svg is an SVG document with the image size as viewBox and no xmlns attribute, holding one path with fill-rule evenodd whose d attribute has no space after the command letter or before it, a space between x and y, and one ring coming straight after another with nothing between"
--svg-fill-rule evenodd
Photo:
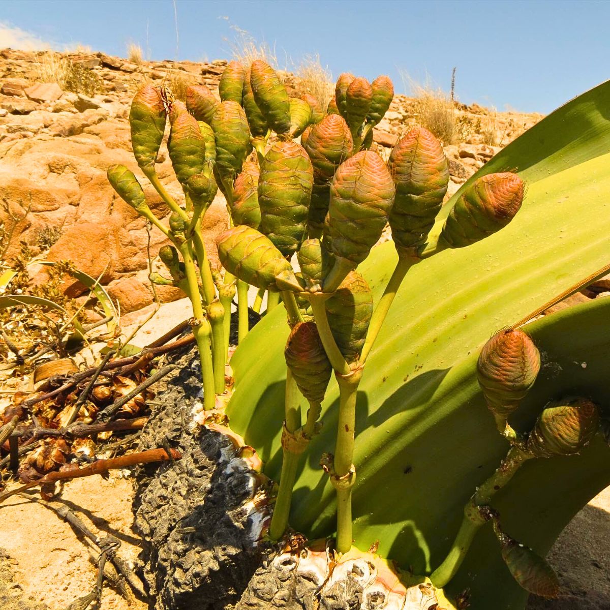
<instances>
[{"instance_id":1,"label":"partly shaded stem just left of the thick central upright stem","mask_svg":"<svg viewBox=\"0 0 610 610\"><path fill-rule=\"evenodd\" d=\"M301 394L296 387L296 382L290 373L286 372L285 391L285 426L288 432L293 433L301 427ZM290 515L290 504L292 503L292 488L295 484L296 469L298 467L300 453L290 451L288 445L283 448L282 473L279 479L278 497L271 517L269 536L272 540L278 540L284 534L288 525Z\"/></svg>"}]
</instances>

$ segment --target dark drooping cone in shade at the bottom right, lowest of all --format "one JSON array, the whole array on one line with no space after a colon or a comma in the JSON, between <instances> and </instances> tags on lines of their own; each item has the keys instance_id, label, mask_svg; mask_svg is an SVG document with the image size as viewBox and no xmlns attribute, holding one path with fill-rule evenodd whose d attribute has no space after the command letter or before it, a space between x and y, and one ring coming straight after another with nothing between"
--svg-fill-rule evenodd
<instances>
[{"instance_id":1,"label":"dark drooping cone in shade at the bottom right, lowest of all","mask_svg":"<svg viewBox=\"0 0 610 610\"><path fill-rule=\"evenodd\" d=\"M553 568L531 548L504 533L496 535L502 545L502 559L519 586L540 597L558 597L561 587Z\"/></svg>"}]
</instances>

